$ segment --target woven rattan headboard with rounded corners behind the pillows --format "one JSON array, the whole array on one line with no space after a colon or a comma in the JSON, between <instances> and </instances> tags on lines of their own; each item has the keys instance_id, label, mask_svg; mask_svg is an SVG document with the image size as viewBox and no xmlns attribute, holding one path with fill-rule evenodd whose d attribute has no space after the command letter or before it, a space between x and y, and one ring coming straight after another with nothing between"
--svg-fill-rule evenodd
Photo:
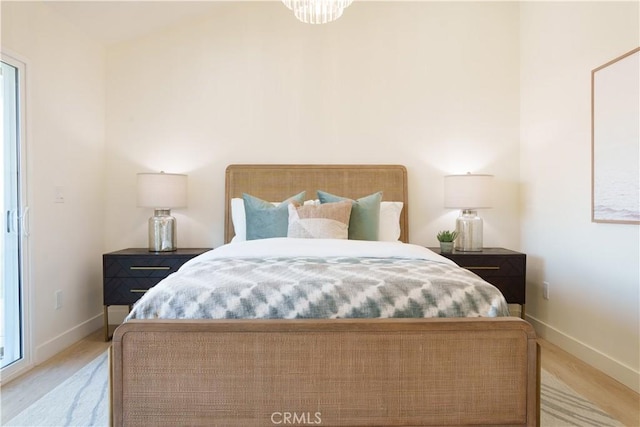
<instances>
[{"instance_id":1,"label":"woven rattan headboard with rounded corners behind the pillows","mask_svg":"<svg viewBox=\"0 0 640 427\"><path fill-rule=\"evenodd\" d=\"M226 171L224 241L234 236L231 199L248 193L280 201L301 191L315 199L323 190L357 199L382 191L382 200L403 202L400 240L409 241L407 170L400 165L230 165Z\"/></svg>"}]
</instances>

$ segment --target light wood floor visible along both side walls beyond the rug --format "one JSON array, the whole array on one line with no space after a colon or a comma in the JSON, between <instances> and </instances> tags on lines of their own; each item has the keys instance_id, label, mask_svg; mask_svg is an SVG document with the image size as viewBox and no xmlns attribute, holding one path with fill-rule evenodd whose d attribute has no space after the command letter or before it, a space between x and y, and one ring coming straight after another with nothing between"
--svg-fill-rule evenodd
<instances>
[{"instance_id":1,"label":"light wood floor visible along both side walls beyond the rug","mask_svg":"<svg viewBox=\"0 0 640 427\"><path fill-rule=\"evenodd\" d=\"M619 382L539 339L542 367L629 427L640 426L640 396ZM107 350L102 330L89 335L2 386L2 424ZM544 426L543 426L544 427Z\"/></svg>"}]
</instances>

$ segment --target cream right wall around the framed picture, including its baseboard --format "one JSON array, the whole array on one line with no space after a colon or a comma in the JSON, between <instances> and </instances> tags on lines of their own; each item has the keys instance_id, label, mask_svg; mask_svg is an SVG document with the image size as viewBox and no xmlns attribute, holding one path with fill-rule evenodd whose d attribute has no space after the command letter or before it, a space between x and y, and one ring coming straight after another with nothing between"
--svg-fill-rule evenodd
<instances>
[{"instance_id":1,"label":"cream right wall around the framed picture, including its baseboard","mask_svg":"<svg viewBox=\"0 0 640 427\"><path fill-rule=\"evenodd\" d=\"M590 85L591 70L638 47L639 12L638 2L527 2L520 13L527 311L543 337L636 391L640 231L591 223Z\"/></svg>"}]
</instances>

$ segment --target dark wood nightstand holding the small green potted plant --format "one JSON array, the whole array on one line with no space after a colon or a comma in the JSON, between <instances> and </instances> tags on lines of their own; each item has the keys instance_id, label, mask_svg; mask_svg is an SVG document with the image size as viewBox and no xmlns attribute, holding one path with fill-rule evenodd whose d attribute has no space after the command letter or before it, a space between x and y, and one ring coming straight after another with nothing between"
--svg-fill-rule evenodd
<instances>
[{"instance_id":1,"label":"dark wood nightstand holding the small green potted plant","mask_svg":"<svg viewBox=\"0 0 640 427\"><path fill-rule=\"evenodd\" d=\"M482 252L453 251L443 254L440 248L429 248L449 258L500 289L509 304L520 305L520 317L524 319L526 300L527 256L504 248L484 248Z\"/></svg>"}]
</instances>

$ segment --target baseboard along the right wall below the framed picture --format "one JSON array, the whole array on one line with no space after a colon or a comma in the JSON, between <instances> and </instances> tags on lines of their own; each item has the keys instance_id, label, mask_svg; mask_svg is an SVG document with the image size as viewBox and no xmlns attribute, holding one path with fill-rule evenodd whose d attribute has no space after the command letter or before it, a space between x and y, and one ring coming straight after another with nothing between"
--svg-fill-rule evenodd
<instances>
[{"instance_id":1,"label":"baseboard along the right wall below the framed picture","mask_svg":"<svg viewBox=\"0 0 640 427\"><path fill-rule=\"evenodd\" d=\"M571 353L578 359L602 371L611 378L629 387L636 393L640 393L640 372L635 371L630 366L626 366L619 361L589 345L559 331L533 316L526 315L526 319L540 338L557 345L563 350Z\"/></svg>"}]
</instances>

